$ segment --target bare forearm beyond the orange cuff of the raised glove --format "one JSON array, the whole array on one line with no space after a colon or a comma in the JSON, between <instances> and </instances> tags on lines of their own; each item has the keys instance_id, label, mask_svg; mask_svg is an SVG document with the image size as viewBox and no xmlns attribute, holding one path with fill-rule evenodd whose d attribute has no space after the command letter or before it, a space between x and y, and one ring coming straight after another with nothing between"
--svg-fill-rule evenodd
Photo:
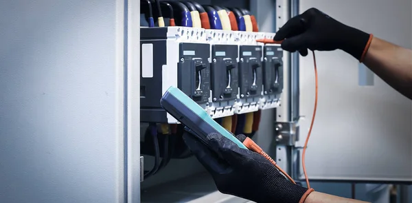
<instances>
[{"instance_id":1,"label":"bare forearm beyond the orange cuff of the raised glove","mask_svg":"<svg viewBox=\"0 0 412 203\"><path fill-rule=\"evenodd\" d=\"M391 87L412 99L412 50L374 37L364 63Z\"/></svg>"}]
</instances>

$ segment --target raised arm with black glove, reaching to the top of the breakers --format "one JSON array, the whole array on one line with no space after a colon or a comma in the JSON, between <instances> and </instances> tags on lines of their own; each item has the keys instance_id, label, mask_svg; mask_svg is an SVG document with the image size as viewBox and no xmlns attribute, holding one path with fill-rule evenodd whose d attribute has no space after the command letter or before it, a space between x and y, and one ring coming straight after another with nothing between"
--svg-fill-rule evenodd
<instances>
[{"instance_id":1,"label":"raised arm with black glove, reaching to the top of the breakers","mask_svg":"<svg viewBox=\"0 0 412 203\"><path fill-rule=\"evenodd\" d=\"M302 56L306 56L308 50L343 50L412 99L412 50L344 25L316 8L290 19L274 40L284 40L284 50L299 51Z\"/></svg>"}]
</instances>

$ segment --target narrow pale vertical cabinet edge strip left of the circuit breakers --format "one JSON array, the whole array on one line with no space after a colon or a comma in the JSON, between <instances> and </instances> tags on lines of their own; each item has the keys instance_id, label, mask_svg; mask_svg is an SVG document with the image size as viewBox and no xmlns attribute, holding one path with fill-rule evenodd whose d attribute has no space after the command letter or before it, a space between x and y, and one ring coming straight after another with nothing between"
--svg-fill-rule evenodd
<instances>
[{"instance_id":1,"label":"narrow pale vertical cabinet edge strip left of the circuit breakers","mask_svg":"<svg viewBox=\"0 0 412 203\"><path fill-rule=\"evenodd\" d=\"M140 3L127 1L127 202L140 202ZM126 191L124 191L126 192Z\"/></svg>"}]
</instances>

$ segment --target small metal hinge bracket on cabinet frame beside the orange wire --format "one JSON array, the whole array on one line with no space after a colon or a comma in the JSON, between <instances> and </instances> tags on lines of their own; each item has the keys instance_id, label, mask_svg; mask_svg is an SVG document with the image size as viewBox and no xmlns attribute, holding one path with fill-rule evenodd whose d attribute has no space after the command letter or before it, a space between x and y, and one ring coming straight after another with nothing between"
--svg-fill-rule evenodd
<instances>
[{"instance_id":1,"label":"small metal hinge bracket on cabinet frame beside the orange wire","mask_svg":"<svg viewBox=\"0 0 412 203\"><path fill-rule=\"evenodd\" d=\"M275 122L277 145L295 146L297 141L297 122Z\"/></svg>"}]
</instances>

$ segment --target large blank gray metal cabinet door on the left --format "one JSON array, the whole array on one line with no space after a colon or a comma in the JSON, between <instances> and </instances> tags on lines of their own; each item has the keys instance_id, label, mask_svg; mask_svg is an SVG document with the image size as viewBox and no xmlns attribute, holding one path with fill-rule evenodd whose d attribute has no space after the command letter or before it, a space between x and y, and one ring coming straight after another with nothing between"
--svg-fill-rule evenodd
<instances>
[{"instance_id":1,"label":"large blank gray metal cabinet door on the left","mask_svg":"<svg viewBox=\"0 0 412 203\"><path fill-rule=\"evenodd\" d=\"M123 3L0 1L0 202L123 202Z\"/></svg>"}]
</instances>

